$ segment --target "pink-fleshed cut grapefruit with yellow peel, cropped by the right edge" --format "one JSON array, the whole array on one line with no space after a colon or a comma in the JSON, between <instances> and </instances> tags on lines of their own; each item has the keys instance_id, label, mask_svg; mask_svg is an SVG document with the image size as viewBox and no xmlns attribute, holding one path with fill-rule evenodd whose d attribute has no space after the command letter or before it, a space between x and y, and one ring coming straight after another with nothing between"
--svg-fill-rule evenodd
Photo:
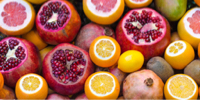
<instances>
[{"instance_id":1,"label":"pink-fleshed cut grapefruit with yellow peel, cropped by the right edge","mask_svg":"<svg viewBox=\"0 0 200 100\"><path fill-rule=\"evenodd\" d=\"M197 49L200 42L200 8L195 7L186 12L178 22L177 32L181 40L190 43Z\"/></svg>"}]
</instances>

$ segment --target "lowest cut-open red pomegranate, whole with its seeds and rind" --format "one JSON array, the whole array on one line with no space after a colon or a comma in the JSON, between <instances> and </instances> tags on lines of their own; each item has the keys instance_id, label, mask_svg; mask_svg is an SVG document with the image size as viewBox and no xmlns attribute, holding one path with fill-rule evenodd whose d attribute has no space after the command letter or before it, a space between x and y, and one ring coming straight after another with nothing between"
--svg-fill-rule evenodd
<instances>
[{"instance_id":1,"label":"lowest cut-open red pomegranate, whole with its seeds and rind","mask_svg":"<svg viewBox=\"0 0 200 100\"><path fill-rule=\"evenodd\" d=\"M50 88L62 95L72 95L83 90L94 65L88 52L69 43L51 50L43 60L43 76Z\"/></svg>"}]
</instances>

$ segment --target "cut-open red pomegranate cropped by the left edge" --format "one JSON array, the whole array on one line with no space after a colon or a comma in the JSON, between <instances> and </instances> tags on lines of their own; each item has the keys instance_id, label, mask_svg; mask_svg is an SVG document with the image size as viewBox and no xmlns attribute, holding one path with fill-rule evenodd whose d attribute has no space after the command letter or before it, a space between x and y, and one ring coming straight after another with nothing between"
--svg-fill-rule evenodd
<instances>
[{"instance_id":1,"label":"cut-open red pomegranate cropped by the left edge","mask_svg":"<svg viewBox=\"0 0 200 100\"><path fill-rule=\"evenodd\" d=\"M38 73L40 65L39 50L33 43L15 37L0 41L0 72L7 86L14 88L21 76Z\"/></svg>"}]
</instances>

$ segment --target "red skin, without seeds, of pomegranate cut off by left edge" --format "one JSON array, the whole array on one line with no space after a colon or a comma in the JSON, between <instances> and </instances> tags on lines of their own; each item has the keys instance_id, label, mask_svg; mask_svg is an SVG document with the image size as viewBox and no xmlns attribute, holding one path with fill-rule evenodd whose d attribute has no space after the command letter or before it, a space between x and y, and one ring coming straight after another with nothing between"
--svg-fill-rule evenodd
<instances>
[{"instance_id":1,"label":"red skin, without seeds, of pomegranate cut off by left edge","mask_svg":"<svg viewBox=\"0 0 200 100\"><path fill-rule=\"evenodd\" d=\"M18 79L23 75L28 73L38 73L39 66L41 66L41 58L39 50L33 43L25 39L15 38L15 37L7 37L1 40L0 43L8 39L15 39L15 40L17 39L21 41L26 46L24 48L27 49L27 58L24 61L24 63L22 63L18 67L10 69L9 71L3 71L3 70L0 71L4 77L5 85L14 88Z\"/></svg>"}]
</instances>

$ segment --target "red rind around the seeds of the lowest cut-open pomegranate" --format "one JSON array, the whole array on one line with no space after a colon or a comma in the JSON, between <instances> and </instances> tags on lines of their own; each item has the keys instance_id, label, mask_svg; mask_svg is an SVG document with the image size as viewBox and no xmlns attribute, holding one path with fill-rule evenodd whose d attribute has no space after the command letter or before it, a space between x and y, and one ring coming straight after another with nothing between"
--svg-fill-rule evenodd
<instances>
[{"instance_id":1,"label":"red rind around the seeds of the lowest cut-open pomegranate","mask_svg":"<svg viewBox=\"0 0 200 100\"><path fill-rule=\"evenodd\" d=\"M57 50L65 50L65 49L69 49L69 50L79 50L80 52L83 53L84 55L84 59L86 60L86 65L84 68L84 73L82 76L79 77L79 79L72 83L69 82L67 84L65 83L61 83L58 81L58 79L53 75L52 73L52 67L51 67L51 59L53 57L53 54L57 51ZM84 89L84 83L86 81L86 79L89 77L90 74L92 74L94 72L94 65L90 59L90 56L88 54L88 52L86 52L85 50L74 46L72 44L69 43L62 43L57 45L53 50L51 50L44 58L43 60L43 77L46 79L49 87L54 90L55 92L62 94L62 95L73 95L75 93L80 92L81 90Z\"/></svg>"}]
</instances>

